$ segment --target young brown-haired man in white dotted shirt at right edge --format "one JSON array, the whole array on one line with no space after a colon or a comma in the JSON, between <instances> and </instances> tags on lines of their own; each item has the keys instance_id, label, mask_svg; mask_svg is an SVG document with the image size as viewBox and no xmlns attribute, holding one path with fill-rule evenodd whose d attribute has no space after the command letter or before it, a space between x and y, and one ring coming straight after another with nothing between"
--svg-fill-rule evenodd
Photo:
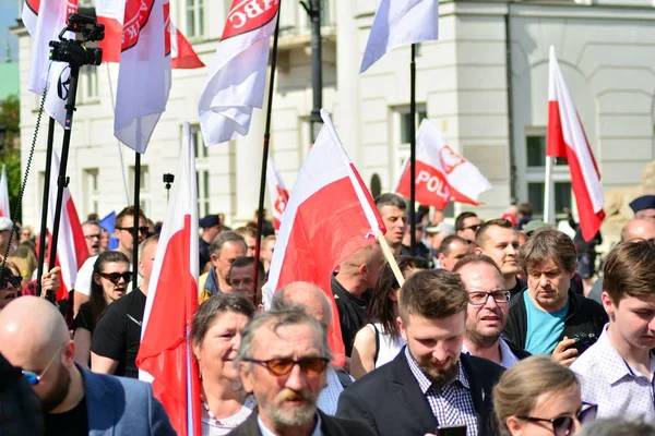
<instances>
[{"instance_id":1,"label":"young brown-haired man in white dotted shirt at right edge","mask_svg":"<svg viewBox=\"0 0 655 436\"><path fill-rule=\"evenodd\" d=\"M609 324L572 365L582 400L598 404L598 416L655 420L655 244L623 242L605 263L603 306Z\"/></svg>"}]
</instances>

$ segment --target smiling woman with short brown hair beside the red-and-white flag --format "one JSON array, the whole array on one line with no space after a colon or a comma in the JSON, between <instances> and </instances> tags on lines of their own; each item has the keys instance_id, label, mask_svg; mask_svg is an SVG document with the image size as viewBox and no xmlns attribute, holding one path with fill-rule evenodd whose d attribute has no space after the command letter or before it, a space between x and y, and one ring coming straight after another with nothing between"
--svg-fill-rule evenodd
<instances>
[{"instance_id":1,"label":"smiling woman with short brown hair beside the red-and-white flag","mask_svg":"<svg viewBox=\"0 0 655 436\"><path fill-rule=\"evenodd\" d=\"M241 386L235 365L241 330L255 308L239 293L218 293L193 317L191 339L202 384L202 435L226 435L250 416L257 405Z\"/></svg>"}]
</instances>

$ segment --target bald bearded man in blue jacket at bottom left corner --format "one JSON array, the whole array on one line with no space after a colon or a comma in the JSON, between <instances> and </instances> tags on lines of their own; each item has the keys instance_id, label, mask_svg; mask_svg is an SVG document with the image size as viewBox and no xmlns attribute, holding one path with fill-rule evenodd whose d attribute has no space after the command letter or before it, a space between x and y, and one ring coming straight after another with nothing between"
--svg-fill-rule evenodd
<instances>
[{"instance_id":1,"label":"bald bearded man in blue jacket at bottom left corner","mask_svg":"<svg viewBox=\"0 0 655 436\"><path fill-rule=\"evenodd\" d=\"M43 299L23 296L0 313L0 353L39 397L46 436L175 435L148 384L75 364L68 327Z\"/></svg>"}]
</instances>

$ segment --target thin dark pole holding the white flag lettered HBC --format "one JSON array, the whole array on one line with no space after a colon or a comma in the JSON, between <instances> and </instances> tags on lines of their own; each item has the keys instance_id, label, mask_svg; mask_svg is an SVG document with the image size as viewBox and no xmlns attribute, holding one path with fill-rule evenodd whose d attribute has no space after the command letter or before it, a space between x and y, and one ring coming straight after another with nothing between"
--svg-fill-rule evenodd
<instances>
[{"instance_id":1,"label":"thin dark pole holding the white flag lettered HBC","mask_svg":"<svg viewBox=\"0 0 655 436\"><path fill-rule=\"evenodd\" d=\"M273 34L273 50L271 52L271 78L269 81L269 101L266 105L266 126L264 129L264 147L262 152L262 175L260 179L260 197L257 209L257 239L254 243L254 262L252 263L253 291L257 295L257 282L259 276L258 263L262 244L262 228L264 226L264 192L266 190L266 162L269 161L269 141L271 138L271 117L273 111L273 90L275 84L275 65L277 64L277 37L279 35L279 8L282 2L277 3L277 19L275 21L275 33Z\"/></svg>"}]
</instances>

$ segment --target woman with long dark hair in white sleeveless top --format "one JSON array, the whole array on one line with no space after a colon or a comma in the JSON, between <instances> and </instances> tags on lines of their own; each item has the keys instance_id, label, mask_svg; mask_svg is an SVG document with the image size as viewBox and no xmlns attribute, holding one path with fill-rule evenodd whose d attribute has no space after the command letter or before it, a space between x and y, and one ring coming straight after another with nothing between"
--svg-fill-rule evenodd
<instances>
[{"instance_id":1,"label":"woman with long dark hair in white sleeveless top","mask_svg":"<svg viewBox=\"0 0 655 436\"><path fill-rule=\"evenodd\" d=\"M419 269L427 269L422 257L397 256L403 277L407 279ZM405 344L396 324L401 287L389 264L384 264L369 303L367 324L357 332L353 343L350 375L359 378L391 362Z\"/></svg>"}]
</instances>

